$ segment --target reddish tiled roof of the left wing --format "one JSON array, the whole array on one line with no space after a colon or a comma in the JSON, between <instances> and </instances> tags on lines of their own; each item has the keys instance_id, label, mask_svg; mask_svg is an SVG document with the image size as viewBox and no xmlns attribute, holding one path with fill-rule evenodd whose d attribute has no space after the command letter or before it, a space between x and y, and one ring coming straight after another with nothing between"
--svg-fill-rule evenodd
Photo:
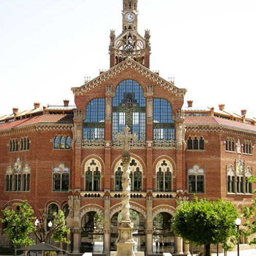
<instances>
[{"instance_id":1,"label":"reddish tiled roof of the left wing","mask_svg":"<svg viewBox=\"0 0 256 256\"><path fill-rule=\"evenodd\" d=\"M73 115L41 115L0 124L0 131L14 129L35 123L73 123Z\"/></svg>"}]
</instances>

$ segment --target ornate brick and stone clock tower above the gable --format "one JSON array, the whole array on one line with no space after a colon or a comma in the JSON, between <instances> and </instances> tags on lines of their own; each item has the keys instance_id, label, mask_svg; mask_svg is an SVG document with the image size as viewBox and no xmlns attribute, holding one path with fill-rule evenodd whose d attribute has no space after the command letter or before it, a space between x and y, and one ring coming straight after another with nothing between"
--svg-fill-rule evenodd
<instances>
[{"instance_id":1,"label":"ornate brick and stone clock tower above the gable","mask_svg":"<svg viewBox=\"0 0 256 256\"><path fill-rule=\"evenodd\" d=\"M150 68L150 31L144 37L137 32L138 0L123 0L123 29L119 36L110 32L110 67L114 67L127 57L131 57L146 68Z\"/></svg>"}]
</instances>

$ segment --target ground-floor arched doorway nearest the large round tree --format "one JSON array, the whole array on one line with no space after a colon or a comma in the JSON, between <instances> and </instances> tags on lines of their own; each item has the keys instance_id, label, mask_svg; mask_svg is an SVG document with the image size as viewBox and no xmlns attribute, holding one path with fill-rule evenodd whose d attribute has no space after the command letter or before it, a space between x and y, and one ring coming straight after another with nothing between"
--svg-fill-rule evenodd
<instances>
[{"instance_id":1,"label":"ground-floor arched doorway nearest the large round tree","mask_svg":"<svg viewBox=\"0 0 256 256\"><path fill-rule=\"evenodd\" d=\"M173 216L160 212L153 220L153 253L175 252L175 234L172 230Z\"/></svg>"}]
</instances>

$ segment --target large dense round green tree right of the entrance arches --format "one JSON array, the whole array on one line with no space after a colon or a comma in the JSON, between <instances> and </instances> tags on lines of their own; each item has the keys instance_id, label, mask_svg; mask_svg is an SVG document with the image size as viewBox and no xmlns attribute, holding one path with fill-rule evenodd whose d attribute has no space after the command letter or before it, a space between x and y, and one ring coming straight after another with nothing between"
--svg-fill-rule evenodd
<instances>
[{"instance_id":1,"label":"large dense round green tree right of the entrance arches","mask_svg":"<svg viewBox=\"0 0 256 256\"><path fill-rule=\"evenodd\" d=\"M237 209L231 202L198 200L181 202L176 211L172 228L179 237L197 246L206 246L206 256L210 255L210 244L222 243L231 249L228 239L236 243L238 237L235 220Z\"/></svg>"}]
</instances>

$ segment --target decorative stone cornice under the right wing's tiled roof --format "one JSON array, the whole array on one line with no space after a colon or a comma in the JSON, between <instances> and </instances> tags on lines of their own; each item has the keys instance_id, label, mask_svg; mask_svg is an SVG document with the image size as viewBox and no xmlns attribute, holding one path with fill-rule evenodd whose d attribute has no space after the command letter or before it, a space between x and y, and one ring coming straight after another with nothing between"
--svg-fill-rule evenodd
<instances>
[{"instance_id":1,"label":"decorative stone cornice under the right wing's tiled roof","mask_svg":"<svg viewBox=\"0 0 256 256\"><path fill-rule=\"evenodd\" d=\"M197 125L197 124L186 124L186 132L202 132L202 133L225 133L238 136L246 136L249 138L256 138L256 133L253 131L242 130L234 127L227 127L220 124L213 125Z\"/></svg>"}]
</instances>

